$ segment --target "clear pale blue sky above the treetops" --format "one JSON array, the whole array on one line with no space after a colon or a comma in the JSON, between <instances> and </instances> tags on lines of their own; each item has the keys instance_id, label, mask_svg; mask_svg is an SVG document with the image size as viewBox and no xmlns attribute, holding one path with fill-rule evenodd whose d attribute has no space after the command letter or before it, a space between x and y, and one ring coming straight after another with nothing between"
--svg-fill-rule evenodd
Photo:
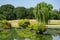
<instances>
[{"instance_id":1,"label":"clear pale blue sky above the treetops","mask_svg":"<svg viewBox=\"0 0 60 40\"><path fill-rule=\"evenodd\" d=\"M54 9L60 8L60 0L0 0L0 6L5 4L12 4L15 7L24 6L26 8L35 7L40 2L52 4Z\"/></svg>"}]
</instances>

